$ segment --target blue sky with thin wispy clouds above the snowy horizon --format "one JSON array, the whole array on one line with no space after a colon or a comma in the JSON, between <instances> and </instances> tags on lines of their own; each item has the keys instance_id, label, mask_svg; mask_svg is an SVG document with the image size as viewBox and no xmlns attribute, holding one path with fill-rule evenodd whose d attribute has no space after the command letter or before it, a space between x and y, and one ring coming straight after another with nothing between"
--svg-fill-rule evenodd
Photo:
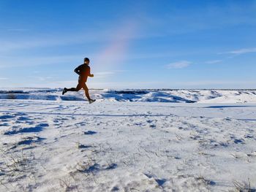
<instances>
[{"instance_id":1,"label":"blue sky with thin wispy clouds above the snowy horizon","mask_svg":"<svg viewBox=\"0 0 256 192\"><path fill-rule=\"evenodd\" d=\"M0 87L256 88L256 1L0 1Z\"/></svg>"}]
</instances>

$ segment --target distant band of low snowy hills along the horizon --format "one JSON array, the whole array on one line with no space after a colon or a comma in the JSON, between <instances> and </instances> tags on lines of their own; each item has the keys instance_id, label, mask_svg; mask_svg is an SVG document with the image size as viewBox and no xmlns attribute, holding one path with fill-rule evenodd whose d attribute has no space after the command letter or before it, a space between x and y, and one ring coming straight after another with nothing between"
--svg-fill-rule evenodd
<instances>
[{"instance_id":1,"label":"distant band of low snowy hills along the horizon","mask_svg":"<svg viewBox=\"0 0 256 192\"><path fill-rule=\"evenodd\" d=\"M61 95L61 88L2 88L0 99L83 101L83 90ZM99 101L146 101L173 103L256 103L256 90L92 89Z\"/></svg>"}]
</instances>

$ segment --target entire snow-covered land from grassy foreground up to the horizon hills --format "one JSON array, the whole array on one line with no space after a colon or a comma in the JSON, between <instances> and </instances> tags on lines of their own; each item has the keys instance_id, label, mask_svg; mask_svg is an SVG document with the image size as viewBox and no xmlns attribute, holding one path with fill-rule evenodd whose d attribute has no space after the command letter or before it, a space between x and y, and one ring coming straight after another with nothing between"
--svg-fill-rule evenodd
<instances>
[{"instance_id":1,"label":"entire snow-covered land from grassy foreground up to the horizon hills","mask_svg":"<svg viewBox=\"0 0 256 192\"><path fill-rule=\"evenodd\" d=\"M256 188L256 91L20 90L0 93L0 191Z\"/></svg>"}]
</instances>

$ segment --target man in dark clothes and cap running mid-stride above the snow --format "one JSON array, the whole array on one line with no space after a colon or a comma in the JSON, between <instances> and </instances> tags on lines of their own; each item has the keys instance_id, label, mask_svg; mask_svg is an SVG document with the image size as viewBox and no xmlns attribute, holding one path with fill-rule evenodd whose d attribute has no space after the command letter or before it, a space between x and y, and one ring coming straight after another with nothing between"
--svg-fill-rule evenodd
<instances>
[{"instance_id":1,"label":"man in dark clothes and cap running mid-stride above the snow","mask_svg":"<svg viewBox=\"0 0 256 192\"><path fill-rule=\"evenodd\" d=\"M89 103L91 104L96 100L90 98L89 90L86 86L86 81L87 81L88 76L94 77L94 74L91 74L91 70L89 67L89 64L90 64L89 58L84 58L83 62L84 63L82 65L78 66L74 70L75 73L79 74L77 87L76 88L64 88L64 90L62 91L62 95L64 95L64 93L67 93L67 91L80 91L80 89L83 88L84 92L86 93L86 97L87 97Z\"/></svg>"}]
</instances>

